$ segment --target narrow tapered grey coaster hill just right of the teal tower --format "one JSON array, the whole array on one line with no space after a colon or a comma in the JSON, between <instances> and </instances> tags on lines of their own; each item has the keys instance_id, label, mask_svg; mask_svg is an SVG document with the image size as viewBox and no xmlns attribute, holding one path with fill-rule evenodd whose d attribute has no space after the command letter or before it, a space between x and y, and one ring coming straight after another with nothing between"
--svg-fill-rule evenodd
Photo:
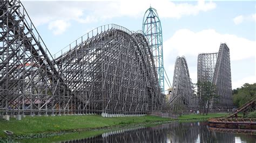
<instances>
[{"instance_id":1,"label":"narrow tapered grey coaster hill just right of the teal tower","mask_svg":"<svg viewBox=\"0 0 256 143\"><path fill-rule=\"evenodd\" d=\"M172 88L169 100L170 110L191 109L197 106L197 98L193 96L193 84L184 56L178 56L176 59Z\"/></svg>"}]
</instances>

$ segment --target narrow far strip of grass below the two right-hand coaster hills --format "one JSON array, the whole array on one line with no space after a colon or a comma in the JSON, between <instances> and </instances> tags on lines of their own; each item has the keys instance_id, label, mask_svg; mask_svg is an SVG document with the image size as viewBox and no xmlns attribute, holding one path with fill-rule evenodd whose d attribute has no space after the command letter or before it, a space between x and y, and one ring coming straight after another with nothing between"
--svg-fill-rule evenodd
<instances>
[{"instance_id":1,"label":"narrow far strip of grass below the two right-hand coaster hills","mask_svg":"<svg viewBox=\"0 0 256 143\"><path fill-rule=\"evenodd\" d=\"M206 120L208 118L213 117L221 117L227 115L227 113L208 113L208 115L197 115L197 114L190 114L190 115L183 115L181 117L178 117L178 120Z\"/></svg>"}]
</instances>

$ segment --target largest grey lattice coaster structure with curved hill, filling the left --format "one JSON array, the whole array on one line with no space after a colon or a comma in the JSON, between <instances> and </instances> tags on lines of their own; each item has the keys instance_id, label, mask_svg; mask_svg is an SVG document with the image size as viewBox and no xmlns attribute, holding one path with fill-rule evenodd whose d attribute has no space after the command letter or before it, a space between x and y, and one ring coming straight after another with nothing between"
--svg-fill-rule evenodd
<instances>
[{"instance_id":1,"label":"largest grey lattice coaster structure with curved hill, filling the left","mask_svg":"<svg viewBox=\"0 0 256 143\"><path fill-rule=\"evenodd\" d=\"M21 2L1 1L0 15L0 115L161 110L164 95L141 32L103 25L52 56Z\"/></svg>"}]
</instances>

